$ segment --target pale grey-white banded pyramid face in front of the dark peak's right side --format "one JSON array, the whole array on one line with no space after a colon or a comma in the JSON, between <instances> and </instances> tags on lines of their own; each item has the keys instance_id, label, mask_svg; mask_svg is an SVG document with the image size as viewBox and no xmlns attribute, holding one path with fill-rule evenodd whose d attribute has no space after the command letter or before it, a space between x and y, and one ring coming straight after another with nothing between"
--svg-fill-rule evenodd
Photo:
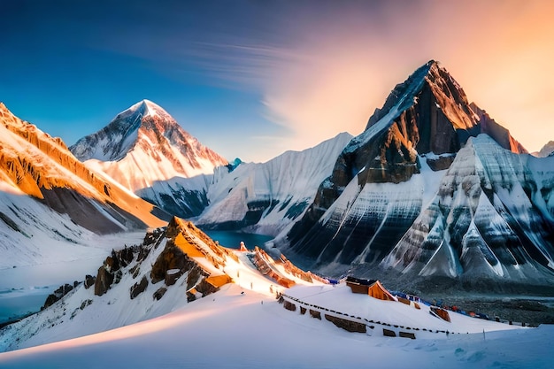
<instances>
[{"instance_id":1,"label":"pale grey-white banded pyramid face in front of the dark peak's right side","mask_svg":"<svg viewBox=\"0 0 554 369\"><path fill-rule=\"evenodd\" d=\"M552 269L553 248L545 231L551 226L532 201L537 186L527 158L487 135L470 139L443 177L435 203L381 265L424 276L552 281L552 271L537 272ZM432 242L428 229L441 230ZM438 255L441 262L434 260ZM447 265L459 265L458 271Z\"/></svg>"}]
</instances>

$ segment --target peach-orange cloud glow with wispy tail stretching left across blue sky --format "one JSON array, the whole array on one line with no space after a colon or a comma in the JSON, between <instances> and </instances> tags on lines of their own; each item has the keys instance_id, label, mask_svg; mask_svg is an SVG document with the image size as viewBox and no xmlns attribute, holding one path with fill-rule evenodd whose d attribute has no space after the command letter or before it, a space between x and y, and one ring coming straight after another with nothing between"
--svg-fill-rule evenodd
<instances>
[{"instance_id":1,"label":"peach-orange cloud glow with wispy tail stretching left across blue sky","mask_svg":"<svg viewBox=\"0 0 554 369\"><path fill-rule=\"evenodd\" d=\"M190 28L173 22L105 44L169 78L200 73L213 86L254 91L265 119L290 132L279 137L282 147L293 150L342 131L358 135L389 90L435 58L470 99L538 150L554 139L545 98L554 92L553 13L548 1L273 4L250 18L219 17L213 28L204 19Z\"/></svg>"}]
</instances>

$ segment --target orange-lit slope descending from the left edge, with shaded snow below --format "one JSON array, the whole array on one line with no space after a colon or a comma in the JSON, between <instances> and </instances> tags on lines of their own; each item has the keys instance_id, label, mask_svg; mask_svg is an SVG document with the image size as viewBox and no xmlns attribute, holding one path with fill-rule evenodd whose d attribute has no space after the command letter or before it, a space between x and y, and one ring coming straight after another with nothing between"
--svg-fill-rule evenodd
<instances>
[{"instance_id":1,"label":"orange-lit slope descending from the left edge, with shaded snow below","mask_svg":"<svg viewBox=\"0 0 554 369\"><path fill-rule=\"evenodd\" d=\"M0 122L0 267L86 257L95 254L85 246L95 233L162 224L151 204L90 171L59 138L4 104Z\"/></svg>"}]
</instances>

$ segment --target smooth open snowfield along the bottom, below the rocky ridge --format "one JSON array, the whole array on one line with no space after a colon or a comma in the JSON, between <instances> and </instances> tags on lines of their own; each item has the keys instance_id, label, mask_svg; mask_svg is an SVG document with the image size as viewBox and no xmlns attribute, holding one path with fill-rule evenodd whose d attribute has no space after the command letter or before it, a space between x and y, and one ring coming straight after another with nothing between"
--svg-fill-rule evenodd
<instances>
[{"instance_id":1,"label":"smooth open snowfield along the bottom, below the rocky ridge","mask_svg":"<svg viewBox=\"0 0 554 369\"><path fill-rule=\"evenodd\" d=\"M249 290L242 294L243 291L245 289L236 284L228 284L212 296L156 319L73 340L5 352L0 354L0 366L552 367L552 326L450 334L436 339L369 336L349 333L328 321L287 311L264 294Z\"/></svg>"}]
</instances>

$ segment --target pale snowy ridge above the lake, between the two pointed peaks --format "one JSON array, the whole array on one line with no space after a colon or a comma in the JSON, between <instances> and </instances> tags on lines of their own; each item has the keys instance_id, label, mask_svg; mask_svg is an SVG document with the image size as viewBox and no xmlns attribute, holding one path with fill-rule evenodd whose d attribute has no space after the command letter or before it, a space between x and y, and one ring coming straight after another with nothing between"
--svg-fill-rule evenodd
<instances>
[{"instance_id":1,"label":"pale snowy ridge above the lake, between the two pointed peaks","mask_svg":"<svg viewBox=\"0 0 554 369\"><path fill-rule=\"evenodd\" d=\"M352 136L342 133L303 151L287 151L265 163L216 170L207 193L210 206L195 220L212 229L279 234L312 204L319 183L332 172Z\"/></svg>"}]
</instances>

